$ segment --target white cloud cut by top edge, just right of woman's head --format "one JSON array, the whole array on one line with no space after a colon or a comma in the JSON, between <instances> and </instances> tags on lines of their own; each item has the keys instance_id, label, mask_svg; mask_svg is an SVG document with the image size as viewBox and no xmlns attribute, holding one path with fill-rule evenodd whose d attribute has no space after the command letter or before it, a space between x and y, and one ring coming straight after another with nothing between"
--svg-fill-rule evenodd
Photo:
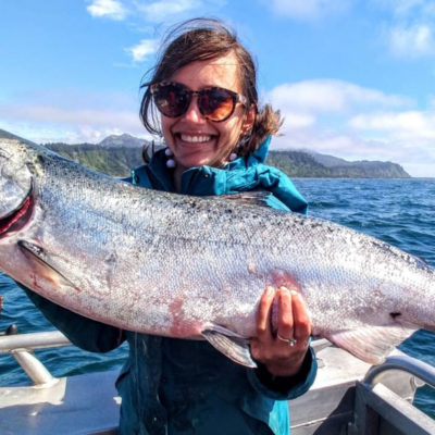
<instances>
[{"instance_id":1,"label":"white cloud cut by top edge, just right of woman's head","mask_svg":"<svg viewBox=\"0 0 435 435\"><path fill-rule=\"evenodd\" d=\"M350 0L263 0L279 16L294 20L311 21L325 14L341 12Z\"/></svg>"}]
</instances>

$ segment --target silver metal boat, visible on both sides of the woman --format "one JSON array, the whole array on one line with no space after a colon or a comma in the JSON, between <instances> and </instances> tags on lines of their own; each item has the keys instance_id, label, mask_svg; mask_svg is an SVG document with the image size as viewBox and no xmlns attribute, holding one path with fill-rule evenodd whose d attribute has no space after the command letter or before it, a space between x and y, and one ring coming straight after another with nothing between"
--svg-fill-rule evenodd
<instances>
[{"instance_id":1,"label":"silver metal boat, visible on both sides of the woman","mask_svg":"<svg viewBox=\"0 0 435 435\"><path fill-rule=\"evenodd\" d=\"M115 435L117 371L54 378L28 348L69 341L60 333L26 336L0 337L0 352L14 355L37 384L0 387L0 434ZM314 385L289 401L291 435L435 434L435 421L412 406L423 381L434 385L433 368L399 356L373 369L326 340L314 341L314 348L320 368Z\"/></svg>"}]
</instances>

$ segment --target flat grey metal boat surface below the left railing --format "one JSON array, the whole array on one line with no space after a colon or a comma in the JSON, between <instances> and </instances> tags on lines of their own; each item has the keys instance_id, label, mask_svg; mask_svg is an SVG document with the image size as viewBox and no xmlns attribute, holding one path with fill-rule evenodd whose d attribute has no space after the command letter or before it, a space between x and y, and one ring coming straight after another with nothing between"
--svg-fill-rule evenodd
<instances>
[{"instance_id":1,"label":"flat grey metal boat surface below the left railing","mask_svg":"<svg viewBox=\"0 0 435 435\"><path fill-rule=\"evenodd\" d=\"M0 434L114 435L117 371L61 377L50 386L0 388Z\"/></svg>"}]
</instances>

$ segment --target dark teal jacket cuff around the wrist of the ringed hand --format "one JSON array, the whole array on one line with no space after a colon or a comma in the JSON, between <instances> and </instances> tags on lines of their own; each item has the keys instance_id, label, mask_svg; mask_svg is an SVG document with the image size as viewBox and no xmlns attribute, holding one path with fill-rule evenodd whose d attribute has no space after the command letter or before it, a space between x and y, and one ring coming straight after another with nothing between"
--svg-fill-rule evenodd
<instances>
[{"instance_id":1,"label":"dark teal jacket cuff around the wrist of the ringed hand","mask_svg":"<svg viewBox=\"0 0 435 435\"><path fill-rule=\"evenodd\" d=\"M273 376L264 365L247 370L249 382L259 393L275 400L290 400L307 393L311 387L318 372L318 362L310 346L302 366L295 376Z\"/></svg>"}]
</instances>

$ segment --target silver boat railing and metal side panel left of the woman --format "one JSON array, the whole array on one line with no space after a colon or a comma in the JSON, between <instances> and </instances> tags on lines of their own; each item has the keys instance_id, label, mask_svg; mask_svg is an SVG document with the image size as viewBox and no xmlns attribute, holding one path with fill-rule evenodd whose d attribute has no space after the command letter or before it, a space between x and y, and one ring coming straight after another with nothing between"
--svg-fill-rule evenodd
<instances>
[{"instance_id":1,"label":"silver boat railing and metal side panel left of the woman","mask_svg":"<svg viewBox=\"0 0 435 435\"><path fill-rule=\"evenodd\" d=\"M1 435L116 435L121 399L117 371L54 377L34 350L70 346L60 332L0 334L0 353L12 355L34 385L0 386Z\"/></svg>"}]
</instances>

